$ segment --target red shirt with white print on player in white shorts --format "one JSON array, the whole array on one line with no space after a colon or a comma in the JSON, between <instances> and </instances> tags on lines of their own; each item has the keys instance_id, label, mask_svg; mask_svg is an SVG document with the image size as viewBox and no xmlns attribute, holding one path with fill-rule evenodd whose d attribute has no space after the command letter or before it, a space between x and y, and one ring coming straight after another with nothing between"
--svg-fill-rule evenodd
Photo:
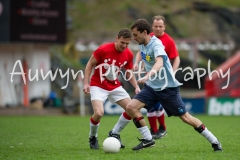
<instances>
[{"instance_id":1,"label":"red shirt with white print on player in white shorts","mask_svg":"<svg viewBox=\"0 0 240 160\"><path fill-rule=\"evenodd\" d=\"M111 91L121 86L121 83L117 78L119 74L117 71L120 71L122 68L133 68L132 51L126 48L123 52L119 52L116 50L114 43L101 45L96 51L93 52L93 56L96 58L98 63L95 66L95 71L91 78L90 86L98 86L107 91ZM109 74L106 74L107 72ZM116 73L115 76L113 76L112 73Z\"/></svg>"}]
</instances>

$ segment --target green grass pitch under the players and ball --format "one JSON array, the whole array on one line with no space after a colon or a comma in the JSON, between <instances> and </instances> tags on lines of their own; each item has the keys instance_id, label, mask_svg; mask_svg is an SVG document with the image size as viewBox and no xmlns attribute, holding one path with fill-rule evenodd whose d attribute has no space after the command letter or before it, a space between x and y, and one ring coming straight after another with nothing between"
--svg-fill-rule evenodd
<instances>
[{"instance_id":1,"label":"green grass pitch under the players and ball","mask_svg":"<svg viewBox=\"0 0 240 160\"><path fill-rule=\"evenodd\" d=\"M2 116L0 117L0 159L81 159L81 160L185 160L239 159L240 117L196 116L212 131L223 146L214 153L211 145L179 118L166 118L168 135L156 140L156 146L132 151L139 132L131 122L122 132L125 149L105 154L102 147L91 150L88 144L89 117L79 116ZM117 122L118 116L104 116L99 129L99 144Z\"/></svg>"}]
</instances>

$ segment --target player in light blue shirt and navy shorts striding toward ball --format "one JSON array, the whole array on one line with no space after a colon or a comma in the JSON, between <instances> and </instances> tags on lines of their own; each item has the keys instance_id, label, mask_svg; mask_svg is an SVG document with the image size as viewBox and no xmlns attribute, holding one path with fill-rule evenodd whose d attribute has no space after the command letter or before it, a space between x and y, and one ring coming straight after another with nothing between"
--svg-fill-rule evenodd
<instances>
[{"instance_id":1,"label":"player in light blue shirt and navy shorts striding toward ball","mask_svg":"<svg viewBox=\"0 0 240 160\"><path fill-rule=\"evenodd\" d=\"M142 135L141 142L132 150L141 150L155 145L150 130L140 112L143 107L152 107L160 102L168 116L178 116L183 122L192 126L204 136L212 145L214 151L222 151L221 143L197 118L190 115L179 94L181 85L173 75L169 58L164 51L161 41L155 36L150 36L151 25L145 19L138 19L131 26L134 39L140 45L142 60L147 74L138 80L145 83L143 89L133 97L126 107L127 113Z\"/></svg>"}]
</instances>

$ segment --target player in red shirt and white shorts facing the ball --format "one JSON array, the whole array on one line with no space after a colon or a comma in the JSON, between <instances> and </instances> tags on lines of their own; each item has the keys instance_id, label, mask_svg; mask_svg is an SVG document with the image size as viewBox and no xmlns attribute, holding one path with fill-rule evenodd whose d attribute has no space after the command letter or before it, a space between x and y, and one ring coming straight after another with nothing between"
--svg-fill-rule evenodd
<instances>
[{"instance_id":1,"label":"player in red shirt and white shorts facing the ball","mask_svg":"<svg viewBox=\"0 0 240 160\"><path fill-rule=\"evenodd\" d=\"M91 149L99 149L98 145L98 129L100 120L104 114L103 104L108 98L111 102L117 103L124 110L130 102L129 94L122 88L118 80L118 74L121 69L127 70L126 79L135 88L135 93L140 91L137 81L133 74L133 53L128 49L131 41L132 33L129 29L122 29L116 37L116 42L101 45L96 49L90 57L84 77L85 93L90 93L93 107L93 115L90 118L89 144ZM89 79L94 69L94 74ZM120 143L119 133L131 120L131 117L123 112L118 123L113 130L109 132L109 136L117 138ZM121 148L124 145L121 143Z\"/></svg>"}]
</instances>

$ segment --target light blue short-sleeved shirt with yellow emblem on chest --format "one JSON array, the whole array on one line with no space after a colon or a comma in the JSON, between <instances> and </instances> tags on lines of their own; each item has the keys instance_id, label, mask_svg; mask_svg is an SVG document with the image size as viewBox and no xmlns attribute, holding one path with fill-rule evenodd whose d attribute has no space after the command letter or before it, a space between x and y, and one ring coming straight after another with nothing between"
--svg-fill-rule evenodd
<instances>
[{"instance_id":1,"label":"light blue short-sleeved shirt with yellow emblem on chest","mask_svg":"<svg viewBox=\"0 0 240 160\"><path fill-rule=\"evenodd\" d=\"M157 37L152 36L146 46L143 44L140 45L140 53L147 72L149 72L156 63L156 57L162 56L163 58L163 67L146 82L148 86L155 91L161 91L165 88L182 85L175 79L170 60L164 50L162 42Z\"/></svg>"}]
</instances>

